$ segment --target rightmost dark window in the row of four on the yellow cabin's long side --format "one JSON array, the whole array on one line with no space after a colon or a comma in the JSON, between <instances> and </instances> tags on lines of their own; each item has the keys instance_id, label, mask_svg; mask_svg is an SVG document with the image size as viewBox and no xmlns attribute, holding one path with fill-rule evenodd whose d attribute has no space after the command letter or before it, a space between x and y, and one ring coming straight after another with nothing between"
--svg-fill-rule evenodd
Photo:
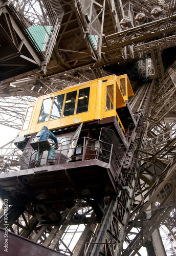
<instances>
[{"instance_id":1,"label":"rightmost dark window in the row of four on the yellow cabin's long side","mask_svg":"<svg viewBox=\"0 0 176 256\"><path fill-rule=\"evenodd\" d=\"M88 111L90 87L79 90L76 114Z\"/></svg>"}]
</instances>

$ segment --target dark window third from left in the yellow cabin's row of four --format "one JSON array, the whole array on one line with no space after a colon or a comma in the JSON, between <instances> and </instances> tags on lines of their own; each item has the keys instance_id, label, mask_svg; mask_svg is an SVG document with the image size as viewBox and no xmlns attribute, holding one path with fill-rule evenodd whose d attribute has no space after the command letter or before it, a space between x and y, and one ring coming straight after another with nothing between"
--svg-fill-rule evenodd
<instances>
[{"instance_id":1,"label":"dark window third from left in the yellow cabin's row of four","mask_svg":"<svg viewBox=\"0 0 176 256\"><path fill-rule=\"evenodd\" d=\"M76 95L77 95L77 91L67 93L66 100L65 100L64 111L63 111L63 117L64 116L70 116L70 115L74 114Z\"/></svg>"}]
</instances>

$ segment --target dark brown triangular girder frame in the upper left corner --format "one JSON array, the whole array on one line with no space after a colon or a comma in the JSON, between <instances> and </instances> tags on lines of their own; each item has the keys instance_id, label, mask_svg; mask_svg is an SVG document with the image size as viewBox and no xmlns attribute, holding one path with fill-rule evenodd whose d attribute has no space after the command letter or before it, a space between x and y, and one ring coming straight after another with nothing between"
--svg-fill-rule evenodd
<instances>
[{"instance_id":1,"label":"dark brown triangular girder frame in the upper left corner","mask_svg":"<svg viewBox=\"0 0 176 256\"><path fill-rule=\"evenodd\" d=\"M8 5L1 4L1 81L40 66L40 56Z\"/></svg>"}]
</instances>

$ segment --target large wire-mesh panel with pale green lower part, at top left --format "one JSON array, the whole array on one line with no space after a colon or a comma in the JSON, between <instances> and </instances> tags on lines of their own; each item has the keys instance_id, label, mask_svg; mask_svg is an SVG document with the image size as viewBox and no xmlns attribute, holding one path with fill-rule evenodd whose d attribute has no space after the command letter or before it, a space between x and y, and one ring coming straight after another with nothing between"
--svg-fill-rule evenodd
<instances>
[{"instance_id":1,"label":"large wire-mesh panel with pale green lower part, at top left","mask_svg":"<svg viewBox=\"0 0 176 256\"><path fill-rule=\"evenodd\" d=\"M46 56L63 18L60 1L13 0L12 5L36 49Z\"/></svg>"}]
</instances>

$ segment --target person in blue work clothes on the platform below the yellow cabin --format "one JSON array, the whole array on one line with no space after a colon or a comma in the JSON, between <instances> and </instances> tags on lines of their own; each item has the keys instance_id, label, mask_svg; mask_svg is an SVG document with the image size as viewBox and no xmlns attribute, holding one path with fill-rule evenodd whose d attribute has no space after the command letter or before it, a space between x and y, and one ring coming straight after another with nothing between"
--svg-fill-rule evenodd
<instances>
[{"instance_id":1,"label":"person in blue work clothes on the platform below the yellow cabin","mask_svg":"<svg viewBox=\"0 0 176 256\"><path fill-rule=\"evenodd\" d=\"M55 142L56 148L58 148L57 138L56 138L56 136L51 131L48 130L47 126L43 126L41 128L40 132L37 133L37 135L35 137L35 142L36 141L47 140L48 135ZM40 166L42 152L43 152L43 150L39 149L39 151L37 153L35 167L39 167ZM49 149L49 156L48 156L48 163L51 164L51 165L54 164L54 162L53 162L54 154L55 154L55 149L54 149L53 146L51 146L51 148Z\"/></svg>"}]
</instances>

